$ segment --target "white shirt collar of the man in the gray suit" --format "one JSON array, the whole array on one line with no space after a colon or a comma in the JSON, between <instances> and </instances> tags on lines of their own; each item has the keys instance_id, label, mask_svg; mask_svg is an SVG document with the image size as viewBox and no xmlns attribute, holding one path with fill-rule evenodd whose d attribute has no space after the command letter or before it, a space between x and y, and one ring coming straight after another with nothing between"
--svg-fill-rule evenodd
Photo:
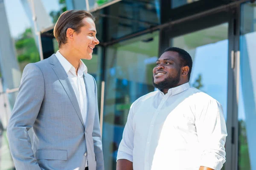
<instances>
[{"instance_id":1,"label":"white shirt collar of the man in the gray suit","mask_svg":"<svg viewBox=\"0 0 256 170\"><path fill-rule=\"evenodd\" d=\"M70 64L70 62L67 61L67 59L65 59L65 57L63 57L63 55L59 51L57 51L55 55L56 55L57 59L59 60L59 62L61 63L64 70L66 71L66 73L68 73L69 71L71 71L71 72L76 71L76 68L74 68L74 66L72 64ZM82 76L83 73L87 74L87 67L84 64L84 62L82 62L81 59L80 59L79 69L78 69L77 73L79 76Z\"/></svg>"}]
</instances>

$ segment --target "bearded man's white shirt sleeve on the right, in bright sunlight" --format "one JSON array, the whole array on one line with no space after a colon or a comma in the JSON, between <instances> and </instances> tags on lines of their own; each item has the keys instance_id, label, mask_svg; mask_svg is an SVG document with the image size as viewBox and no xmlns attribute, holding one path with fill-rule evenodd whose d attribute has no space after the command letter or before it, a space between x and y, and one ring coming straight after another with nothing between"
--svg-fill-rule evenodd
<instances>
[{"instance_id":1,"label":"bearded man's white shirt sleeve on the right, in bright sunlight","mask_svg":"<svg viewBox=\"0 0 256 170\"><path fill-rule=\"evenodd\" d=\"M214 100L204 105L195 121L202 155L200 166L221 170L225 156L227 127L222 106Z\"/></svg>"}]
</instances>

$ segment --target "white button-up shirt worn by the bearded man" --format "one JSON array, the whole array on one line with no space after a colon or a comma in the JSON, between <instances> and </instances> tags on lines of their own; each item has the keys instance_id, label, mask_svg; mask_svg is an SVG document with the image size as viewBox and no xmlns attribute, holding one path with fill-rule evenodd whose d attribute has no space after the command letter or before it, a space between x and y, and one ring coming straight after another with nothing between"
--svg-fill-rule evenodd
<instances>
[{"instance_id":1,"label":"white button-up shirt worn by the bearded man","mask_svg":"<svg viewBox=\"0 0 256 170\"><path fill-rule=\"evenodd\" d=\"M132 161L134 170L220 170L226 136L222 106L186 83L131 105L117 160Z\"/></svg>"}]
</instances>

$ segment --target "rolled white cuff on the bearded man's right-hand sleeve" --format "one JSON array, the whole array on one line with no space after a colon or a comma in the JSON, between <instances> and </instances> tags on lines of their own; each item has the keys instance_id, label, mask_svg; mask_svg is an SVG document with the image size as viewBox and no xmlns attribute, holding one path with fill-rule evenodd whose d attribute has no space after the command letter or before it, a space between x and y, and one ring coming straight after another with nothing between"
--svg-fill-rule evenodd
<instances>
[{"instance_id":1,"label":"rolled white cuff on the bearded man's right-hand sleeve","mask_svg":"<svg viewBox=\"0 0 256 170\"><path fill-rule=\"evenodd\" d=\"M209 167L214 170L221 170L225 159L216 153L207 153L202 156L200 166Z\"/></svg>"}]
</instances>

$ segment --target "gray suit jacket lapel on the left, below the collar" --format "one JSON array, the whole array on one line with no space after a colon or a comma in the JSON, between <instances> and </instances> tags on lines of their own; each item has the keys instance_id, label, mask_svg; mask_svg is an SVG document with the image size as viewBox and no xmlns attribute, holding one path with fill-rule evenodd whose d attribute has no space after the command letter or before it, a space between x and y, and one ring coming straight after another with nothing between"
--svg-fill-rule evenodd
<instances>
[{"instance_id":1,"label":"gray suit jacket lapel on the left, below the collar","mask_svg":"<svg viewBox=\"0 0 256 170\"><path fill-rule=\"evenodd\" d=\"M52 65L54 65L52 67L52 69L54 70L55 74L57 75L58 79L60 80L61 85L63 86L64 90L66 91L66 93L68 95L68 97L70 98L70 101L71 101L73 107L75 108L76 113L79 116L79 119L80 119L81 123L84 126L84 121L83 121L83 118L82 118L82 115L81 115L79 104L78 104L77 99L76 99L76 94L75 94L75 92L73 90L73 87L72 87L72 85L71 85L71 83L68 79L67 73L65 72L64 68L62 67L61 63L58 61L57 57L55 57L55 55L50 57L50 58L51 59L50 59L49 62Z\"/></svg>"}]
</instances>

